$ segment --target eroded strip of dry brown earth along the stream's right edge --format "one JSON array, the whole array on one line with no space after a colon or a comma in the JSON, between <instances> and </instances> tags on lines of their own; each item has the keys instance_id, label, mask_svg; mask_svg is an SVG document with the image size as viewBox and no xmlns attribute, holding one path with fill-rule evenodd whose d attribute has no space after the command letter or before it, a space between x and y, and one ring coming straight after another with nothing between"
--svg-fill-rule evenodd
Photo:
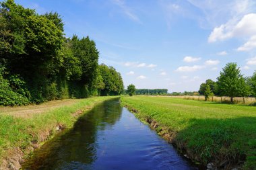
<instances>
[{"instance_id":1,"label":"eroded strip of dry brown earth along the stream's right edge","mask_svg":"<svg viewBox=\"0 0 256 170\"><path fill-rule=\"evenodd\" d=\"M197 159L198 156L192 151L190 151L189 148L186 147L186 144L184 142L176 140L175 137L177 136L177 132L170 130L166 126L162 126L156 120L150 118L149 116L148 117L139 116L140 111L137 110L137 108L134 108L132 105L127 105L125 101L121 100L121 105L127 108L131 113L133 113L136 118L141 120L141 122L148 124L150 128L152 128L153 130L156 130L159 136L164 138L164 140L166 140L168 143L172 144L172 146L174 146L174 148L177 149L179 154L183 155L183 157L185 157L186 159L188 159L189 161L197 165L199 169L207 169L207 170L225 169L224 168L225 165L228 167L228 169L232 169L232 170L243 169L243 163L239 165L235 165L235 164L228 165L226 162L224 163L224 162L218 161L217 158L214 158L212 160L212 163L207 163L207 164L202 163L199 159Z\"/></svg>"}]
</instances>

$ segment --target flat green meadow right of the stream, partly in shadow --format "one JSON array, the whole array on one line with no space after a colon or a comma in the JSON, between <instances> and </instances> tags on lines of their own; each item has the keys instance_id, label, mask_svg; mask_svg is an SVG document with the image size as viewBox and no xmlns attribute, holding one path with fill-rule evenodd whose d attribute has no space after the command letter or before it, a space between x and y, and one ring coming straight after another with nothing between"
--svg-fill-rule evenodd
<instances>
[{"instance_id":1,"label":"flat green meadow right of the stream, partly in shadow","mask_svg":"<svg viewBox=\"0 0 256 170\"><path fill-rule=\"evenodd\" d=\"M170 97L121 101L194 161L224 169L256 167L256 107Z\"/></svg>"}]
</instances>

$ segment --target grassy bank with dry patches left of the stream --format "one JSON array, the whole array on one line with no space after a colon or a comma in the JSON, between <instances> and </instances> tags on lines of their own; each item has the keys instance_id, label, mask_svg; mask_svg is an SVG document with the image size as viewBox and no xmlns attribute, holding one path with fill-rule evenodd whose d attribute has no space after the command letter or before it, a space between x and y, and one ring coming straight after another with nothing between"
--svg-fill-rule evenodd
<instances>
[{"instance_id":1,"label":"grassy bank with dry patches left of the stream","mask_svg":"<svg viewBox=\"0 0 256 170\"><path fill-rule=\"evenodd\" d=\"M42 105L0 108L0 169L19 169L24 156L80 114L113 97L67 99Z\"/></svg>"}]
</instances>

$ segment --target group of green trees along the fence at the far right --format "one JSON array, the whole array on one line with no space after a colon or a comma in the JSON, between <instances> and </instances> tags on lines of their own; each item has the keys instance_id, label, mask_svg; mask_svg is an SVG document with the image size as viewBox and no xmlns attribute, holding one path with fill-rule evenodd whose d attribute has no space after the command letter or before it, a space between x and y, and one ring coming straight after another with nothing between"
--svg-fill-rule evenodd
<instances>
[{"instance_id":1,"label":"group of green trees along the fence at the far right","mask_svg":"<svg viewBox=\"0 0 256 170\"><path fill-rule=\"evenodd\" d=\"M222 69L217 81L207 79L200 85L199 93L205 100L212 95L234 97L256 97L256 71L251 77L244 77L236 63L230 62Z\"/></svg>"}]
</instances>

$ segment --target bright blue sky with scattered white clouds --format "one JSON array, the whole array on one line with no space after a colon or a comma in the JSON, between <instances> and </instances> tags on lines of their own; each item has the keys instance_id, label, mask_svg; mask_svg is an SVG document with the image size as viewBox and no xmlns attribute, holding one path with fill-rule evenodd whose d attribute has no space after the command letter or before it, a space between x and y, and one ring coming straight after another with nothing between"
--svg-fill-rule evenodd
<instances>
[{"instance_id":1,"label":"bright blue sky with scattered white clouds","mask_svg":"<svg viewBox=\"0 0 256 170\"><path fill-rule=\"evenodd\" d=\"M256 70L254 0L16 0L38 13L57 11L68 37L90 36L100 63L125 87L197 91L227 62Z\"/></svg>"}]
</instances>

